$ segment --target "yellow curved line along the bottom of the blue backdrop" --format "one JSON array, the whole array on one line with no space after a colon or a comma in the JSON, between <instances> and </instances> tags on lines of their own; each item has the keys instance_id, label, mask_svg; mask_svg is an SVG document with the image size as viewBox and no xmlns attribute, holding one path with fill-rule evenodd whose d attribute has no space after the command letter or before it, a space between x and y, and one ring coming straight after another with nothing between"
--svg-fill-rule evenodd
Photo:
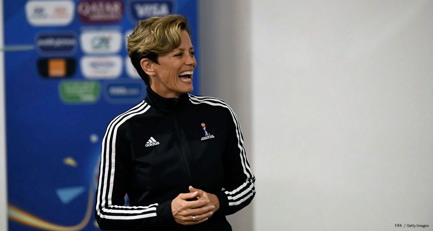
<instances>
[{"instance_id":1,"label":"yellow curved line along the bottom of the blue backdrop","mask_svg":"<svg viewBox=\"0 0 433 231\"><path fill-rule=\"evenodd\" d=\"M59 224L53 224L48 221L44 221L40 218L37 218L19 208L16 208L13 205L8 205L8 217L11 220L17 221L22 224L26 224L35 228L52 230L52 231L78 231L86 227L89 223L90 217L93 212L93 200L94 200L94 190L93 187L89 189L89 198L87 202L87 210L84 215L83 220L74 226L63 226Z\"/></svg>"}]
</instances>

